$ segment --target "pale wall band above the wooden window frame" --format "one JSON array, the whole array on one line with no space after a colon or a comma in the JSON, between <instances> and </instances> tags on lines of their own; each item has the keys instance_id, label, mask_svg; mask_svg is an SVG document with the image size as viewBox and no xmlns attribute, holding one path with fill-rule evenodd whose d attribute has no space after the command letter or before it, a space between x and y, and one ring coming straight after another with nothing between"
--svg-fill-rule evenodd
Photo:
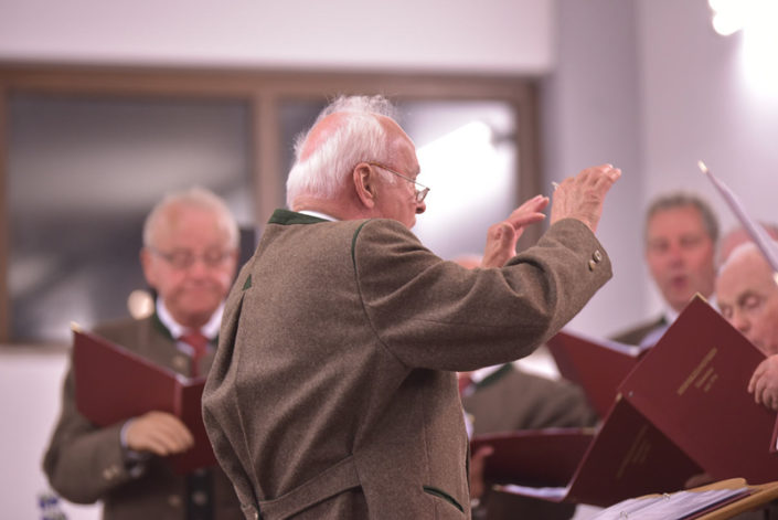
<instances>
[{"instance_id":1,"label":"pale wall band above the wooden window frame","mask_svg":"<svg viewBox=\"0 0 778 520\"><path fill-rule=\"evenodd\" d=\"M0 1L0 59L539 73L553 0Z\"/></svg>"}]
</instances>

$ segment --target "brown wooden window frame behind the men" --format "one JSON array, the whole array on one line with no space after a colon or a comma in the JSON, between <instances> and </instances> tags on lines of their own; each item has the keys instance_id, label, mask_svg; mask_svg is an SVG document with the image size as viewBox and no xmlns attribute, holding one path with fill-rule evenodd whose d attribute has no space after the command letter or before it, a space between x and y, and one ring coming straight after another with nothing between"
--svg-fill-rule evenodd
<instances>
[{"instance_id":1,"label":"brown wooden window frame behind the men","mask_svg":"<svg viewBox=\"0 0 778 520\"><path fill-rule=\"evenodd\" d=\"M519 150L515 198L541 192L536 81L516 76L392 72L278 71L256 68L184 68L0 63L0 343L11 341L8 268L10 257L8 176L9 98L13 94L68 96L152 96L238 100L249 106L251 173L255 222L262 226L283 205L278 193L279 103L320 100L335 94L383 94L408 100L498 100L516 114ZM533 243L530 229L522 244Z\"/></svg>"}]
</instances>

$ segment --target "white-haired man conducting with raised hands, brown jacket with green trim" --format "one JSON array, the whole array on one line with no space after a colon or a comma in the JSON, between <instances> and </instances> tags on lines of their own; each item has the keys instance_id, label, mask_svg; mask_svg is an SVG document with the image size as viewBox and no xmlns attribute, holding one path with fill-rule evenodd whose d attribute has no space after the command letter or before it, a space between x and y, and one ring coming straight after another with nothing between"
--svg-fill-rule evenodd
<instances>
[{"instance_id":1,"label":"white-haired man conducting with raised hands, brown jacket with green trim","mask_svg":"<svg viewBox=\"0 0 778 520\"><path fill-rule=\"evenodd\" d=\"M470 517L456 371L525 355L609 278L594 231L620 171L561 183L488 231L500 268L411 233L427 188L384 98L339 98L298 142L277 210L227 298L205 425L246 518ZM473 182L476 179L473 178Z\"/></svg>"}]
</instances>

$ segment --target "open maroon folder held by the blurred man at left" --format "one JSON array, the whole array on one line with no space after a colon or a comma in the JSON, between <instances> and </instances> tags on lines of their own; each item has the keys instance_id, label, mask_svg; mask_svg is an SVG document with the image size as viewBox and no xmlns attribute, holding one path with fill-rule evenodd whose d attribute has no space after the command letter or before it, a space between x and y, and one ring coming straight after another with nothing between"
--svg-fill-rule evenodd
<instances>
[{"instance_id":1,"label":"open maroon folder held by the blurred man at left","mask_svg":"<svg viewBox=\"0 0 778 520\"><path fill-rule=\"evenodd\" d=\"M169 460L179 474L216 465L200 401L205 378L185 378L92 332L73 329L73 371L78 411L109 426L158 410L181 420L194 447Z\"/></svg>"}]
</instances>

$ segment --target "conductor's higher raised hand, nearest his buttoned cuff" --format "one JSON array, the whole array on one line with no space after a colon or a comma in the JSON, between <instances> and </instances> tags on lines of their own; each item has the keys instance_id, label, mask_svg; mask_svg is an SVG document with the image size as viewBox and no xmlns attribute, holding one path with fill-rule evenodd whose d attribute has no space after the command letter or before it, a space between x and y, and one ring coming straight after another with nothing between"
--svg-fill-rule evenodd
<instances>
[{"instance_id":1,"label":"conductor's higher raised hand, nearest his buttoned cuff","mask_svg":"<svg viewBox=\"0 0 778 520\"><path fill-rule=\"evenodd\" d=\"M562 219L577 219L593 232L597 231L605 195L619 177L618 168L600 165L565 179L554 191L551 224Z\"/></svg>"}]
</instances>

